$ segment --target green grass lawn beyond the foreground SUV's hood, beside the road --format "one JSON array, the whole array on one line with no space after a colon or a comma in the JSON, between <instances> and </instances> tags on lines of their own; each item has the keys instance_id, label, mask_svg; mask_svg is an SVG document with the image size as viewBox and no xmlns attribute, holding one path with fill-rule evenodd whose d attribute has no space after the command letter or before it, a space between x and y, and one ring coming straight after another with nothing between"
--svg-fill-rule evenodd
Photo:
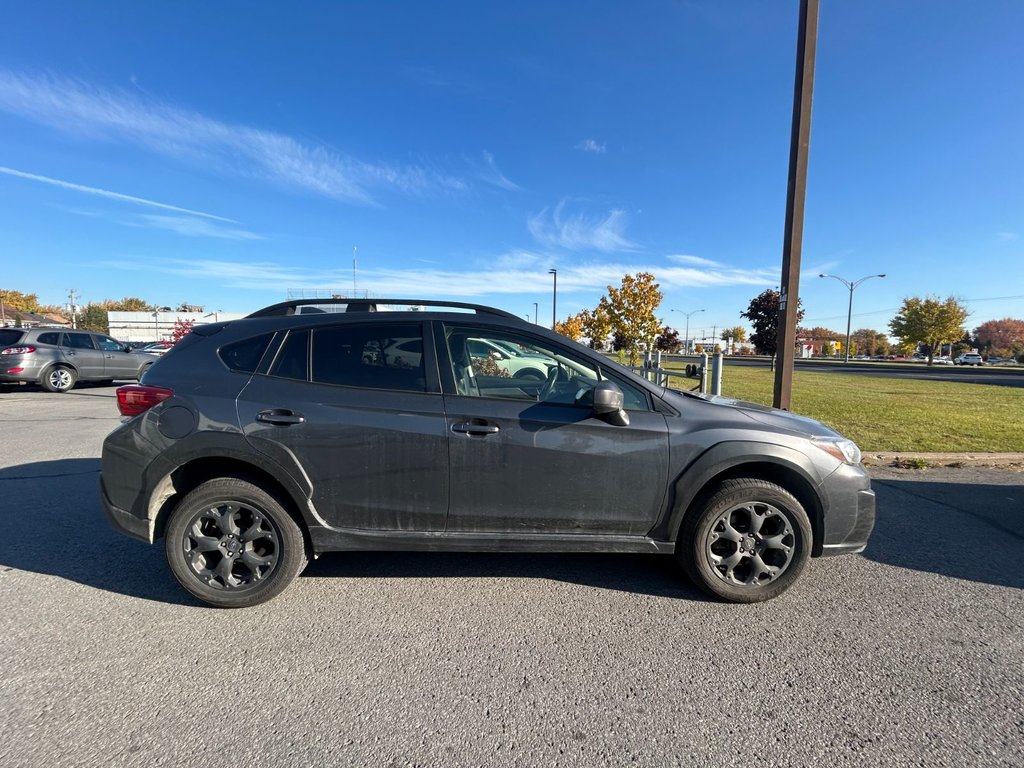
<instances>
[{"instance_id":1,"label":"green grass lawn beyond the foreground SUV's hood, beside the road","mask_svg":"<svg viewBox=\"0 0 1024 768\"><path fill-rule=\"evenodd\" d=\"M726 362L722 394L770 406L774 376ZM868 452L1024 453L1024 389L1013 387L797 371L791 411Z\"/></svg>"}]
</instances>

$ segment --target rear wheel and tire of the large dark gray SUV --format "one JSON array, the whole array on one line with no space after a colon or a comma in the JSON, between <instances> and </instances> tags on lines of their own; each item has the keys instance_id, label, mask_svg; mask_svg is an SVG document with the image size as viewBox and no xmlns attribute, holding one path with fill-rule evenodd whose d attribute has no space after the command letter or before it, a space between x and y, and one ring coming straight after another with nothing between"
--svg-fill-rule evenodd
<instances>
[{"instance_id":1,"label":"rear wheel and tire of the large dark gray SUV","mask_svg":"<svg viewBox=\"0 0 1024 768\"><path fill-rule=\"evenodd\" d=\"M306 566L302 530L282 504L246 480L208 480L182 499L164 549L174 578L218 608L258 605Z\"/></svg>"}]
</instances>

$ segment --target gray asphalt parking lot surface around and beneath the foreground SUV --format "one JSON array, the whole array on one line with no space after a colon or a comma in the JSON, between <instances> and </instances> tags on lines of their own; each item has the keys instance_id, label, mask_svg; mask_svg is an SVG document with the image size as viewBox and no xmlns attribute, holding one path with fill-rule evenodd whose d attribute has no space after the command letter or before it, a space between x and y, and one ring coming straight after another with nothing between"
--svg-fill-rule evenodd
<instances>
[{"instance_id":1,"label":"gray asphalt parking lot surface around and beneath the foreground SUV","mask_svg":"<svg viewBox=\"0 0 1024 768\"><path fill-rule=\"evenodd\" d=\"M878 470L863 555L339 554L202 607L96 500L111 388L0 392L2 766L1021 766L1024 474Z\"/></svg>"}]
</instances>

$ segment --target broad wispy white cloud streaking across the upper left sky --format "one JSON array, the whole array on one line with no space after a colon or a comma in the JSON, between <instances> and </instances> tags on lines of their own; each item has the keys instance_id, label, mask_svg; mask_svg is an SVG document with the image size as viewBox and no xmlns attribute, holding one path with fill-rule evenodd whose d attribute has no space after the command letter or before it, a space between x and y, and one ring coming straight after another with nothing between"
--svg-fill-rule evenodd
<instances>
[{"instance_id":1,"label":"broad wispy white cloud streaking across the upper left sky","mask_svg":"<svg viewBox=\"0 0 1024 768\"><path fill-rule=\"evenodd\" d=\"M371 203L377 189L419 195L465 186L433 169L369 163L275 131L221 122L138 91L105 90L55 76L0 71L0 111L76 137L130 142L344 201Z\"/></svg>"}]
</instances>

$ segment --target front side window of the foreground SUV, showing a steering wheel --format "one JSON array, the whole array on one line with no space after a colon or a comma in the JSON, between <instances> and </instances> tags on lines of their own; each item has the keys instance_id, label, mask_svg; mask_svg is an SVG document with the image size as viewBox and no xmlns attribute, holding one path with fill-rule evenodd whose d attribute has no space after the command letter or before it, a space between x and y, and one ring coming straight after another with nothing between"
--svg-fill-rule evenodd
<instances>
[{"instance_id":1,"label":"front side window of the foreground SUV, showing a steering wheel","mask_svg":"<svg viewBox=\"0 0 1024 768\"><path fill-rule=\"evenodd\" d=\"M547 340L467 327L445 327L444 337L459 394L574 406L588 401L597 382L610 380L627 410L650 410L642 389Z\"/></svg>"}]
</instances>

